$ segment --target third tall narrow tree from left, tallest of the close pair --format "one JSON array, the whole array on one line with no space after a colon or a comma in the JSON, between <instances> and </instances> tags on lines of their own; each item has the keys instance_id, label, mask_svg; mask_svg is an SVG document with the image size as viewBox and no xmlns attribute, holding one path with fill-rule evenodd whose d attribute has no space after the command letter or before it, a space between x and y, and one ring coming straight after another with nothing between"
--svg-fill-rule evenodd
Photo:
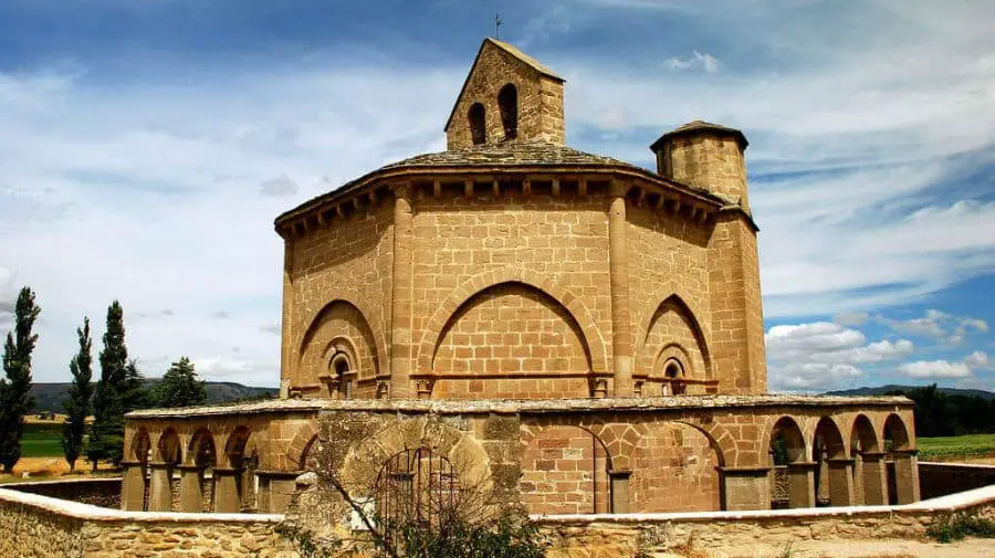
<instances>
[{"instance_id":1,"label":"third tall narrow tree from left, tallest of the close pair","mask_svg":"<svg viewBox=\"0 0 995 558\"><path fill-rule=\"evenodd\" d=\"M107 307L107 327L100 359L101 380L94 392L94 421L86 448L86 456L94 470L100 461L111 461L117 465L124 457L124 397L128 378L128 349L125 346L124 309L117 301Z\"/></svg>"}]
</instances>

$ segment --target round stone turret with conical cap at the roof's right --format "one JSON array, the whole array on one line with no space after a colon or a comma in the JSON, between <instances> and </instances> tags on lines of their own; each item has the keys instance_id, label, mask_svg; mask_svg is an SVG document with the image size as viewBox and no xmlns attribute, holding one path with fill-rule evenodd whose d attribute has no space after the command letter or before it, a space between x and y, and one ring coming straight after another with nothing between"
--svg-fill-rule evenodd
<instances>
[{"instance_id":1,"label":"round stone turret with conical cap at the roof's right","mask_svg":"<svg viewBox=\"0 0 995 558\"><path fill-rule=\"evenodd\" d=\"M747 145L746 136L737 129L694 120L663 134L650 149L657 155L661 176L708 189L748 210Z\"/></svg>"}]
</instances>

